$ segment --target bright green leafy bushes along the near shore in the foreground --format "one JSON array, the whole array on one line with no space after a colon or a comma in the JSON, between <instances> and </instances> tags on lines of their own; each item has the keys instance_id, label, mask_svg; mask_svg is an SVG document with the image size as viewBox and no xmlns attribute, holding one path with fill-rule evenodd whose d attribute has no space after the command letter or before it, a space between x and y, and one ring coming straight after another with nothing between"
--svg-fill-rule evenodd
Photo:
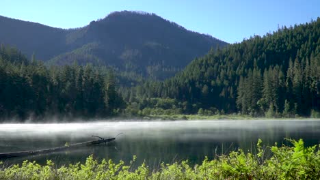
<instances>
[{"instance_id":1,"label":"bright green leafy bushes along the near shore in the foreground","mask_svg":"<svg viewBox=\"0 0 320 180\"><path fill-rule=\"evenodd\" d=\"M265 150L258 140L258 153L232 151L215 160L205 160L201 165L189 166L187 161L161 164L150 170L146 164L133 169L135 161L125 166L111 160L97 162L92 155L85 164L70 164L54 168L51 161L46 166L36 162L23 162L1 168L0 179L320 179L319 147L304 147L303 140L291 140L293 147L274 145L272 155L265 159Z\"/></svg>"}]
</instances>

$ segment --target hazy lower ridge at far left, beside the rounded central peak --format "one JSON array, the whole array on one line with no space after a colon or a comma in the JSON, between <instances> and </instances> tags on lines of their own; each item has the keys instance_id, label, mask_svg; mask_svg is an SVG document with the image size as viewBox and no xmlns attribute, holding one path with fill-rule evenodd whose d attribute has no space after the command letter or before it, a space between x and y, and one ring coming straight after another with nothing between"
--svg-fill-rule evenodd
<instances>
[{"instance_id":1,"label":"hazy lower ridge at far left, beside the rounded central peak","mask_svg":"<svg viewBox=\"0 0 320 180\"><path fill-rule=\"evenodd\" d=\"M4 16L0 16L0 27L0 44L14 46L27 57L35 53L44 61L65 52L66 35L72 31Z\"/></svg>"}]
</instances>

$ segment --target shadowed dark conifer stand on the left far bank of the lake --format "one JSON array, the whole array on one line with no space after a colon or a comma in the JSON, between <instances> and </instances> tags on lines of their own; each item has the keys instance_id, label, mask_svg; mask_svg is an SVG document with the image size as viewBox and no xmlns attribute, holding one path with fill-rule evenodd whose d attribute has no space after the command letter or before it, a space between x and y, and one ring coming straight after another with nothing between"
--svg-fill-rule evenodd
<instances>
[{"instance_id":1,"label":"shadowed dark conifer stand on the left far bank of the lake","mask_svg":"<svg viewBox=\"0 0 320 180\"><path fill-rule=\"evenodd\" d=\"M112 73L102 75L90 65L46 67L15 48L0 47L1 119L105 117L124 105Z\"/></svg>"}]
</instances>

